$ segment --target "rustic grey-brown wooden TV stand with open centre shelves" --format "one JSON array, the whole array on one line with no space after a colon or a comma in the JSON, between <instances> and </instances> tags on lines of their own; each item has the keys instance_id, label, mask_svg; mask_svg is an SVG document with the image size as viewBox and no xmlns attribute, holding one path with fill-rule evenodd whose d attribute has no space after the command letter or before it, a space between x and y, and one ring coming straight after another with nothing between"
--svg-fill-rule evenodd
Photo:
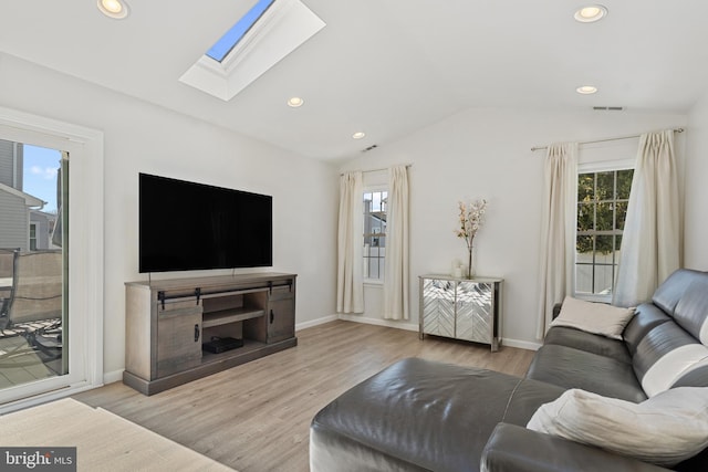
<instances>
[{"instance_id":1,"label":"rustic grey-brown wooden TV stand with open centre shelves","mask_svg":"<svg viewBox=\"0 0 708 472\"><path fill-rule=\"evenodd\" d=\"M294 274L126 282L123 382L144 395L298 345ZM212 338L243 339L220 354Z\"/></svg>"}]
</instances>

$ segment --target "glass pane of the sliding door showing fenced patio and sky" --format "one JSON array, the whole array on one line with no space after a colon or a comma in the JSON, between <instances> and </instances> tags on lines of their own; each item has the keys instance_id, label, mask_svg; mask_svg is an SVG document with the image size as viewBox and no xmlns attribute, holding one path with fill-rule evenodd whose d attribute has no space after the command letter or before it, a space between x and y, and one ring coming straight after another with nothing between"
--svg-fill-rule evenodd
<instances>
[{"instance_id":1,"label":"glass pane of the sliding door showing fenced patio and sky","mask_svg":"<svg viewBox=\"0 0 708 472\"><path fill-rule=\"evenodd\" d=\"M71 373L69 154L0 139L0 399Z\"/></svg>"}]
</instances>

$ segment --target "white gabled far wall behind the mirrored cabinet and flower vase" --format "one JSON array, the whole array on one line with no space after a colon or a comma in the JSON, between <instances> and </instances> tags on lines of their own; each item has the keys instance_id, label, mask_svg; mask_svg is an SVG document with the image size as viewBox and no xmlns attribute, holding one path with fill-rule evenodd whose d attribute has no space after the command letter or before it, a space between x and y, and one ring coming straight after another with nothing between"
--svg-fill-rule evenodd
<instances>
[{"instance_id":1,"label":"white gabled far wall behind the mirrored cabinet and flower vase","mask_svg":"<svg viewBox=\"0 0 708 472\"><path fill-rule=\"evenodd\" d=\"M410 253L412 308L407 327L418 322L418 275L449 273L455 259L465 260L464 241L452 233L457 202L489 200L487 222L475 238L478 275L503 276L508 344L537 343L537 271L540 247L544 151L530 148L554 141L592 140L685 126L685 115L631 112L469 109L393 144L382 144L341 166L340 170L378 169L412 164ZM677 135L681 141L681 135ZM634 159L638 139L581 146L581 161ZM365 292L366 313L379 318L378 287ZM374 305L374 306L371 306ZM353 316L355 317L355 316Z\"/></svg>"}]
</instances>

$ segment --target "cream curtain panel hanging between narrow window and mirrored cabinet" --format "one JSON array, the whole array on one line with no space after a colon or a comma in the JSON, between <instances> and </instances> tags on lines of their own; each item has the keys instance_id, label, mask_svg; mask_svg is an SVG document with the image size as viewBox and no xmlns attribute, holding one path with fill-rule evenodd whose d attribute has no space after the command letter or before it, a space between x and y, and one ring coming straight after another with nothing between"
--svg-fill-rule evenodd
<instances>
[{"instance_id":1,"label":"cream curtain panel hanging between narrow window and mirrored cabinet","mask_svg":"<svg viewBox=\"0 0 708 472\"><path fill-rule=\"evenodd\" d=\"M408 172L406 166L388 169L384 260L384 318L408 319Z\"/></svg>"}]
</instances>

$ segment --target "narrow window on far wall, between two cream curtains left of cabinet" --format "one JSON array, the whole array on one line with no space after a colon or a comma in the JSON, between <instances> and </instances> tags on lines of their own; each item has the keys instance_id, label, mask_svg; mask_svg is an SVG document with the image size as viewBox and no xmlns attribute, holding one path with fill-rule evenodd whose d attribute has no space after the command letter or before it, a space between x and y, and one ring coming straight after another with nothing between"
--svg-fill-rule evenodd
<instances>
[{"instance_id":1,"label":"narrow window on far wall, between two cream curtains left of cabinet","mask_svg":"<svg viewBox=\"0 0 708 472\"><path fill-rule=\"evenodd\" d=\"M384 280L387 199L385 188L364 190L364 280Z\"/></svg>"}]
</instances>

